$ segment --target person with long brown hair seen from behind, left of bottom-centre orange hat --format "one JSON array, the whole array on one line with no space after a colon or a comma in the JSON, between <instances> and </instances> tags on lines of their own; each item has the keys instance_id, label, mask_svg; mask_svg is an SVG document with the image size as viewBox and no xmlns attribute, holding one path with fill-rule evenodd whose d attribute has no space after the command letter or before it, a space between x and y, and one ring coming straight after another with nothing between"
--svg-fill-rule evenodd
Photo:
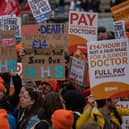
<instances>
[{"instance_id":1,"label":"person with long brown hair seen from behind, left of bottom-centre orange hat","mask_svg":"<svg viewBox=\"0 0 129 129\"><path fill-rule=\"evenodd\" d=\"M56 92L49 92L44 96L41 110L38 113L40 122L35 125L34 129L42 129L45 126L51 126L51 116L57 109L64 109L63 98Z\"/></svg>"}]
</instances>

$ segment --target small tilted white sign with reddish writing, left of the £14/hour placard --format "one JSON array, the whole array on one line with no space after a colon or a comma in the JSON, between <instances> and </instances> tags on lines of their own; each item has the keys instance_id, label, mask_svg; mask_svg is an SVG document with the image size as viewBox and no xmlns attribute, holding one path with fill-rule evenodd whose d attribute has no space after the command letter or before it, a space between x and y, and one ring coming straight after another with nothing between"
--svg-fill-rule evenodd
<instances>
[{"instance_id":1,"label":"small tilted white sign with reddish writing, left of the \u00a314/hour placard","mask_svg":"<svg viewBox=\"0 0 129 129\"><path fill-rule=\"evenodd\" d=\"M86 84L86 63L75 57L71 57L71 65L69 70L69 78L79 86Z\"/></svg>"}]
</instances>

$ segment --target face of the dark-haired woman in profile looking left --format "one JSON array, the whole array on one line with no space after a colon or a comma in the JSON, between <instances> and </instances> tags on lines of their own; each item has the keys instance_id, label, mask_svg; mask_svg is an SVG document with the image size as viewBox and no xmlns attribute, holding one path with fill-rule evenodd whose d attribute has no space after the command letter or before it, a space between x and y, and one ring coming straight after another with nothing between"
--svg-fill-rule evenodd
<instances>
[{"instance_id":1,"label":"face of the dark-haired woman in profile looking left","mask_svg":"<svg viewBox=\"0 0 129 129\"><path fill-rule=\"evenodd\" d=\"M34 104L34 100L31 99L28 91L22 87L22 91L19 94L20 97L20 105L22 108L30 108Z\"/></svg>"}]
</instances>

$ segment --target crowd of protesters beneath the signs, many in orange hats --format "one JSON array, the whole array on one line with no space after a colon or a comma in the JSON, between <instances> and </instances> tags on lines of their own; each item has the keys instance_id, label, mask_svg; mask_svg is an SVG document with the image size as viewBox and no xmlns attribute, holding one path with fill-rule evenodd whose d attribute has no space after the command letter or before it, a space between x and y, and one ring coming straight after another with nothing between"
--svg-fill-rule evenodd
<instances>
[{"instance_id":1,"label":"crowd of protesters beneath the signs, many in orange hats","mask_svg":"<svg viewBox=\"0 0 129 129\"><path fill-rule=\"evenodd\" d=\"M98 8L93 8L97 7L93 0L82 0L81 4L77 2L71 1L72 10L79 4L84 11L98 11ZM99 27L98 40L107 39L115 39L114 33ZM24 48L18 44L16 52L20 62ZM87 61L86 55L80 51L73 56ZM69 58L70 54L66 53L66 80L63 81L25 82L16 72L0 74L0 129L121 128L121 117L128 116L129 109L116 106L120 98L95 100L90 92L89 72L85 90L79 91L68 76Z\"/></svg>"}]
</instances>

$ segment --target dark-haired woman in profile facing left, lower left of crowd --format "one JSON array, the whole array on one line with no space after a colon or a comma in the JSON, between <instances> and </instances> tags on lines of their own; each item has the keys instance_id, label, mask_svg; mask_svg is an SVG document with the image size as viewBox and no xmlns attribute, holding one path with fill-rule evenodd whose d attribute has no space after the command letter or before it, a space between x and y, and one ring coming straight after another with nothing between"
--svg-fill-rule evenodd
<instances>
[{"instance_id":1,"label":"dark-haired woman in profile facing left, lower left of crowd","mask_svg":"<svg viewBox=\"0 0 129 129\"><path fill-rule=\"evenodd\" d=\"M39 120L41 97L33 83L26 83L21 88L20 108L17 113L17 129L30 129Z\"/></svg>"}]
</instances>

